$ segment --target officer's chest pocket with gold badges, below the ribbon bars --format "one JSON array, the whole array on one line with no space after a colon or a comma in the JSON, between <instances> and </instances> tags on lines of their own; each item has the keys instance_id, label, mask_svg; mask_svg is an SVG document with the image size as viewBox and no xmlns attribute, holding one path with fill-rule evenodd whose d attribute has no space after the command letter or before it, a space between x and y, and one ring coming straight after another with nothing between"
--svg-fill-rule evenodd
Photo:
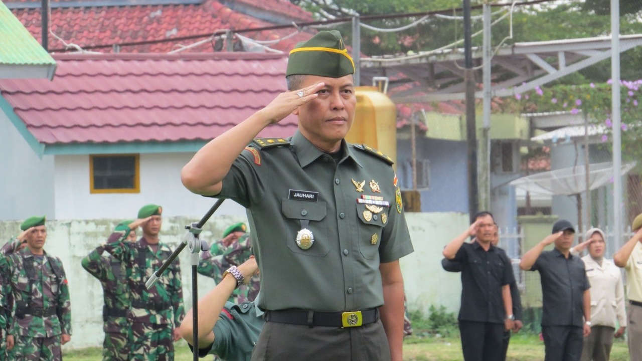
<instances>
[{"instance_id":1,"label":"officer's chest pocket with gold badges, below the ribbon bars","mask_svg":"<svg viewBox=\"0 0 642 361\"><path fill-rule=\"evenodd\" d=\"M358 242L361 256L367 260L377 260L383 227L388 224L390 208L372 204L356 204L358 223Z\"/></svg>"}]
</instances>

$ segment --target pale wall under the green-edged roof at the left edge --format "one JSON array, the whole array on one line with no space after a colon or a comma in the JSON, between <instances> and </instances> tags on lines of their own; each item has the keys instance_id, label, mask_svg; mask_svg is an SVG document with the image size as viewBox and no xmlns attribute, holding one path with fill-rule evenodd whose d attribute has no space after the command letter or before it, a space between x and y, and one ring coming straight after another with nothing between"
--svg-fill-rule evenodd
<instances>
[{"instance_id":1,"label":"pale wall under the green-edged roof at the left edge","mask_svg":"<svg viewBox=\"0 0 642 361\"><path fill-rule=\"evenodd\" d=\"M0 220L54 216L53 157L40 159L0 111Z\"/></svg>"}]
</instances>

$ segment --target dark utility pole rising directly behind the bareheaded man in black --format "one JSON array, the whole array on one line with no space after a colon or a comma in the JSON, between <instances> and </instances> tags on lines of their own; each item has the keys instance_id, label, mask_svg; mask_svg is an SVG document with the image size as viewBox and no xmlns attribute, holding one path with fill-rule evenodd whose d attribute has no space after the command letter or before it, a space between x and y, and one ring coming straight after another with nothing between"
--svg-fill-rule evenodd
<instances>
[{"instance_id":1,"label":"dark utility pole rising directly behind the bareheaded man in black","mask_svg":"<svg viewBox=\"0 0 642 361\"><path fill-rule=\"evenodd\" d=\"M477 193L477 129L475 125L475 75L471 45L471 0L464 0L464 82L466 87L466 135L468 145L468 214L478 212Z\"/></svg>"}]
</instances>

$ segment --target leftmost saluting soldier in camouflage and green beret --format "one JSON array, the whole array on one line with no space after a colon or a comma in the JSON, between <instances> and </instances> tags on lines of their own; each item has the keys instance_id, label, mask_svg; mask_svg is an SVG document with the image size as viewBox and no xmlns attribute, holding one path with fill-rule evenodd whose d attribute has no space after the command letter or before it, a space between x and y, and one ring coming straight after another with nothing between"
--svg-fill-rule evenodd
<instances>
[{"instance_id":1,"label":"leftmost saluting soldier in camouflage and green beret","mask_svg":"<svg viewBox=\"0 0 642 361\"><path fill-rule=\"evenodd\" d=\"M61 344L71 340L71 303L59 258L43 247L45 217L22 222L27 247L8 257L7 270L15 302L7 336L13 360L62 360Z\"/></svg>"}]
</instances>

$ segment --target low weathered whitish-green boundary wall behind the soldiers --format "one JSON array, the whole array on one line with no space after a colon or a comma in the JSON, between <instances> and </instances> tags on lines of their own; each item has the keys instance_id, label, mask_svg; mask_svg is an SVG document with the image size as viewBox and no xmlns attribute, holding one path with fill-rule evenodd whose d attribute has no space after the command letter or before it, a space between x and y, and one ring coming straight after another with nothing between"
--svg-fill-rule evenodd
<instances>
[{"instance_id":1,"label":"low weathered whitish-green boundary wall behind the soldiers","mask_svg":"<svg viewBox=\"0 0 642 361\"><path fill-rule=\"evenodd\" d=\"M200 218L200 217L199 217ZM468 217L460 213L408 213L415 252L401 259L406 297L410 310L428 313L434 304L443 304L450 312L458 312L461 281L459 274L441 268L442 249L468 225ZM161 240L175 249L185 234L184 225L198 218L163 218ZM114 220L56 220L47 224L46 251L58 256L65 267L71 292L73 336L65 348L100 346L103 340L101 311L103 291L98 280L87 273L80 261L95 247L107 240L120 218ZM201 239L210 242L234 222L247 221L245 216L215 215L204 227ZM19 221L0 222L0 243L17 234ZM250 230L251 231L251 230ZM180 254L183 294L186 309L191 307L191 269L189 254ZM214 286L208 277L198 276L198 295Z\"/></svg>"}]
</instances>

